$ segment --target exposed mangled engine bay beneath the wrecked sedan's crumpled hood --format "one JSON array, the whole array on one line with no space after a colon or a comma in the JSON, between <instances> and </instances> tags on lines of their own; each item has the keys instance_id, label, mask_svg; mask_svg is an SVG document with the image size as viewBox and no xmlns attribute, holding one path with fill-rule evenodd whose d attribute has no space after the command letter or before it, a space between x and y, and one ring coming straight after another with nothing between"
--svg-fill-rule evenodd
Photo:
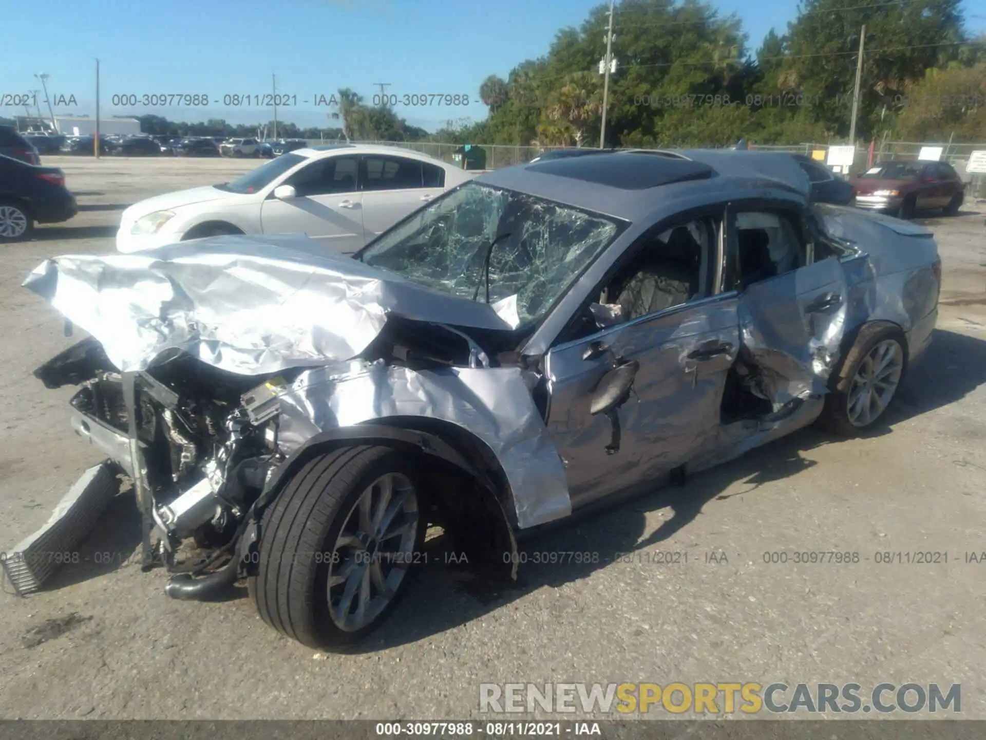
<instances>
[{"instance_id":1,"label":"exposed mangled engine bay beneath the wrecked sedan's crumpled hood","mask_svg":"<svg viewBox=\"0 0 986 740\"><path fill-rule=\"evenodd\" d=\"M276 414L262 415L257 395L250 395L273 375L236 375L177 354L134 374L135 419L128 412L126 377L93 338L52 358L35 375L48 388L79 385L71 400L78 414L74 424L96 444L109 436L129 437L134 424L140 462L134 466L131 458L123 467L135 484L146 486L157 555L170 568L186 538L207 550L230 545L270 471L284 460L277 452Z\"/></svg>"}]
</instances>

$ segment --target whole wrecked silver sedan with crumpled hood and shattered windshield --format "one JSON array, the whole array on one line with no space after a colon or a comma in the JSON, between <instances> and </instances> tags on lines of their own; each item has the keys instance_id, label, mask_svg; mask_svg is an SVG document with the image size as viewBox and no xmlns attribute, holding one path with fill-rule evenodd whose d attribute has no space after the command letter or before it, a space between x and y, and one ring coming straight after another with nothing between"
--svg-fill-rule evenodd
<instances>
[{"instance_id":1,"label":"whole wrecked silver sedan with crumpled hood and shattered windshield","mask_svg":"<svg viewBox=\"0 0 986 740\"><path fill-rule=\"evenodd\" d=\"M246 578L270 626L338 645L431 524L509 578L524 530L877 422L935 326L937 247L808 192L784 155L599 154L481 176L355 259L291 236L50 259L26 285L90 336L35 374L79 386L110 458L86 481L133 481L171 596Z\"/></svg>"}]
</instances>

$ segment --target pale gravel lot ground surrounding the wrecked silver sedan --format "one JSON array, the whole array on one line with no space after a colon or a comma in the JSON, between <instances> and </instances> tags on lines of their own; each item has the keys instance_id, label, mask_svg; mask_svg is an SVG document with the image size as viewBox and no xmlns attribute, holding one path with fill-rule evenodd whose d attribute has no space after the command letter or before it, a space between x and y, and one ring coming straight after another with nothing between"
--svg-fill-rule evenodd
<instances>
[{"instance_id":1,"label":"pale gravel lot ground surrounding the wrecked silver sedan","mask_svg":"<svg viewBox=\"0 0 986 740\"><path fill-rule=\"evenodd\" d=\"M46 391L31 374L74 339L20 287L25 275L48 257L111 251L120 211L136 200L257 166L45 164L63 168L82 210L3 248L0 549L39 527L101 459L69 428L72 389ZM0 716L461 718L478 715L480 683L732 680L958 683L961 716L986 718L983 210L923 219L944 261L939 329L866 438L809 429L526 545L531 559L598 553L593 564L528 563L519 583L492 588L431 563L387 626L347 655L268 629L246 590L225 603L166 597L163 570L127 559L137 514L123 496L48 590L18 598L6 584ZM796 551L860 559L765 562ZM927 552L948 562L907 562ZM665 564L662 553L687 560ZM902 561L878 562L882 553Z\"/></svg>"}]
</instances>

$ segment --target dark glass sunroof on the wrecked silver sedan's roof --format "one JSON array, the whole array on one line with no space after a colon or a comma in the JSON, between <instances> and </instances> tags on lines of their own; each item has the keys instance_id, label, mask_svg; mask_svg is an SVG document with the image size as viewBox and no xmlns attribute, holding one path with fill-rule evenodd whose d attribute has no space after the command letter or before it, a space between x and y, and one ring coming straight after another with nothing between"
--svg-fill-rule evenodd
<instances>
[{"instance_id":1,"label":"dark glass sunroof on the wrecked silver sedan's roof","mask_svg":"<svg viewBox=\"0 0 986 740\"><path fill-rule=\"evenodd\" d=\"M701 162L672 157L641 157L630 153L549 160L530 165L528 170L624 190L707 180L716 174L715 170Z\"/></svg>"}]
</instances>

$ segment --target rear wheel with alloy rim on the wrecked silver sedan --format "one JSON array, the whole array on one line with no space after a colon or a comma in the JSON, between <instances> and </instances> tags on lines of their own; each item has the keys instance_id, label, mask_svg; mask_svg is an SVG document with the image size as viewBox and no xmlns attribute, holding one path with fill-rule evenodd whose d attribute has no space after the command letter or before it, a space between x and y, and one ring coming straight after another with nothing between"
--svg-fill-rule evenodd
<instances>
[{"instance_id":1,"label":"rear wheel with alloy rim on the wrecked silver sedan","mask_svg":"<svg viewBox=\"0 0 986 740\"><path fill-rule=\"evenodd\" d=\"M856 337L818 417L820 426L845 436L872 426L896 397L907 369L904 334L893 326L870 324Z\"/></svg>"}]
</instances>

